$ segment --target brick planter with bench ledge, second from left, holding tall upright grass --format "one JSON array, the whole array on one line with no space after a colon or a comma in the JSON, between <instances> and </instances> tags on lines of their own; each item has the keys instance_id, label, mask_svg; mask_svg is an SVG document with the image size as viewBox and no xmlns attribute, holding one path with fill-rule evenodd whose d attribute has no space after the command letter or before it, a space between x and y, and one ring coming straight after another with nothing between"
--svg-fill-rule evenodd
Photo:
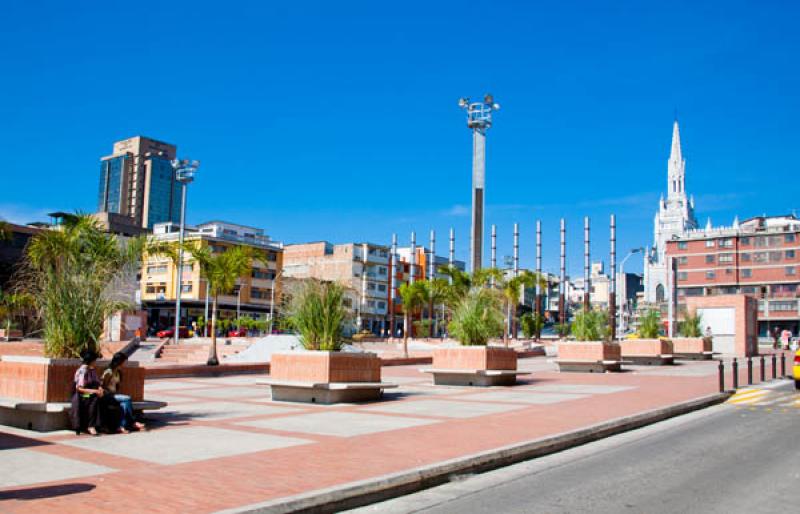
<instances>
[{"instance_id":1,"label":"brick planter with bench ledge, second from left, holding tall upright grass","mask_svg":"<svg viewBox=\"0 0 800 514\"><path fill-rule=\"evenodd\" d=\"M339 403L377 400L384 389L381 360L374 353L276 353L270 361L269 385L275 401Z\"/></svg>"}]
</instances>

